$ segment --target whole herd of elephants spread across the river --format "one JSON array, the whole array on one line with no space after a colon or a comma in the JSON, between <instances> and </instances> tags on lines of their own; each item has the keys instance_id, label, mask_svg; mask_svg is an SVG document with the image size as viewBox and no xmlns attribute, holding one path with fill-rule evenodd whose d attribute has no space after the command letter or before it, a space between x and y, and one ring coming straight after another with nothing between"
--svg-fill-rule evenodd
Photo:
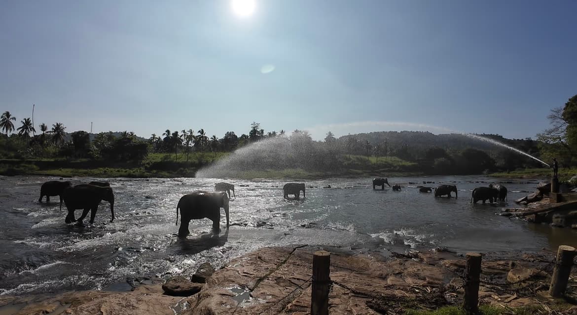
<instances>
[{"instance_id":1,"label":"whole herd of elephants spread across the river","mask_svg":"<svg viewBox=\"0 0 577 315\"><path fill-rule=\"evenodd\" d=\"M431 183L431 182L424 182ZM389 184L386 178L376 178L373 179L373 189L376 187L381 187L381 190L385 189L385 184L392 188L393 191L400 191L401 186L398 184ZM416 184L416 183L410 183ZM330 185L325 188L331 188ZM457 187L456 185L440 185L439 187L424 187L417 186L419 192L431 193L434 191L435 197L447 196L451 198L451 192L455 192L455 198L457 198ZM177 222L178 225L178 212L180 211L181 225L178 229L179 237L186 237L189 235L189 222L192 219L204 219L208 218L212 221L212 229L215 233L220 231L220 208L224 208L224 213L226 214L226 226L229 226L229 206L228 201L231 198L231 191L233 197L236 198L234 193L234 184L229 183L217 183L215 185L215 191L194 191L188 193L181 197L177 205ZM304 183L287 183L283 186L283 197L285 199L299 200L300 193L306 197L306 188ZM293 198L289 198L288 195L293 195ZM94 218L96 217L96 211L102 200L110 203L111 218L110 222L114 221L114 192L110 183L107 181L91 181L88 184L78 184L72 185L70 181L47 181L42 184L40 188L40 198L38 202L42 202L42 198L46 196L46 202L50 202L50 196L59 196L60 198L60 208L62 209L62 203L65 204L68 209L68 214L66 215L65 222L73 223L76 222L77 225L83 225L84 218L88 215L90 211L90 223L94 223ZM507 199L507 188L503 185L492 185L488 187L477 187L473 189L471 193L471 202L477 203L489 200L490 203L497 201L504 201ZM75 210L83 210L80 218L76 219L74 217Z\"/></svg>"}]
</instances>

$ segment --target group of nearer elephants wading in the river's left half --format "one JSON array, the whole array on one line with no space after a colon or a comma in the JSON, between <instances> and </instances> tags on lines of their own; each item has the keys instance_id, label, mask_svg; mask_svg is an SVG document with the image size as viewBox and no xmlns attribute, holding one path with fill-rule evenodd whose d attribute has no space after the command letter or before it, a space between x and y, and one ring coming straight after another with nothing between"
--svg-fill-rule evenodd
<instances>
[{"instance_id":1,"label":"group of nearer elephants wading in the river's left half","mask_svg":"<svg viewBox=\"0 0 577 315\"><path fill-rule=\"evenodd\" d=\"M215 233L219 233L220 208L224 208L226 226L228 228L230 225L228 203L231 198L231 191L236 199L234 184L228 183L217 183L215 192L194 191L182 196L177 204L177 225L179 211L181 216L178 236L186 237L189 234L188 226L190 220L203 218L210 219L212 221L212 229ZM283 196L285 199L290 199L288 195L294 195L294 199L298 200L301 191L303 196L306 196L304 183L288 183L283 187ZM83 220L88 215L88 211L91 212L90 223L94 223L96 211L102 200L110 203L110 222L114 221L114 192L108 182L91 181L88 184L72 185L70 181L47 181L40 187L38 202L42 202L44 196L46 196L46 202L50 202L51 196L59 196L60 208L62 209L62 203L64 203L68 209L68 214L65 218L66 223L76 222L77 225L83 225ZM83 210L82 215L78 219L74 218L75 210Z\"/></svg>"}]
</instances>

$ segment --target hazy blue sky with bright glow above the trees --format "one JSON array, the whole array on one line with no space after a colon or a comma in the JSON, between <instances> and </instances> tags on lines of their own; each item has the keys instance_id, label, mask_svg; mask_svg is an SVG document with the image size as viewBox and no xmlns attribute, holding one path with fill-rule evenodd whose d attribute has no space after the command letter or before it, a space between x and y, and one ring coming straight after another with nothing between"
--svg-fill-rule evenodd
<instances>
[{"instance_id":1,"label":"hazy blue sky with bright glow above the trees","mask_svg":"<svg viewBox=\"0 0 577 315\"><path fill-rule=\"evenodd\" d=\"M244 17L224 0L1 1L0 111L20 126L36 104L37 130L145 137L248 134L253 121L316 139L533 137L577 94L576 12L574 0L256 0Z\"/></svg>"}]
</instances>

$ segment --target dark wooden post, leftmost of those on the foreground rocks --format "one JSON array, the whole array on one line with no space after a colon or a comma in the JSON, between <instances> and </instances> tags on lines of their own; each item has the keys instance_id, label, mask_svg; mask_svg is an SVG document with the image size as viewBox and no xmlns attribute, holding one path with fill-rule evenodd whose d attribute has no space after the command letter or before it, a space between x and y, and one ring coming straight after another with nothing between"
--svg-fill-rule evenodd
<instances>
[{"instance_id":1,"label":"dark wooden post, leftmost of those on the foreground rocks","mask_svg":"<svg viewBox=\"0 0 577 315\"><path fill-rule=\"evenodd\" d=\"M310 315L328 315L328 293L331 289L331 253L313 254L313 286L310 293Z\"/></svg>"}]
</instances>

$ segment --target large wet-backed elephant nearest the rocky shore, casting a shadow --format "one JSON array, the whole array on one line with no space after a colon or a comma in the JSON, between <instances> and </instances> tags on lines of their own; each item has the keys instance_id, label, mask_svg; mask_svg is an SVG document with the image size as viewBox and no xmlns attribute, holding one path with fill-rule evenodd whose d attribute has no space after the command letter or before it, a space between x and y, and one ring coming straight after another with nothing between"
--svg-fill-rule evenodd
<instances>
[{"instance_id":1,"label":"large wet-backed elephant nearest the rocky shore, casting a shadow","mask_svg":"<svg viewBox=\"0 0 577 315\"><path fill-rule=\"evenodd\" d=\"M208 218L212 221L214 233L220 232L220 208L224 208L226 214L226 227L230 226L228 221L228 195L226 192L206 192L194 191L181 197L177 205L181 212L181 226L178 229L179 237L186 237L190 234L188 224L192 219Z\"/></svg>"}]
</instances>

